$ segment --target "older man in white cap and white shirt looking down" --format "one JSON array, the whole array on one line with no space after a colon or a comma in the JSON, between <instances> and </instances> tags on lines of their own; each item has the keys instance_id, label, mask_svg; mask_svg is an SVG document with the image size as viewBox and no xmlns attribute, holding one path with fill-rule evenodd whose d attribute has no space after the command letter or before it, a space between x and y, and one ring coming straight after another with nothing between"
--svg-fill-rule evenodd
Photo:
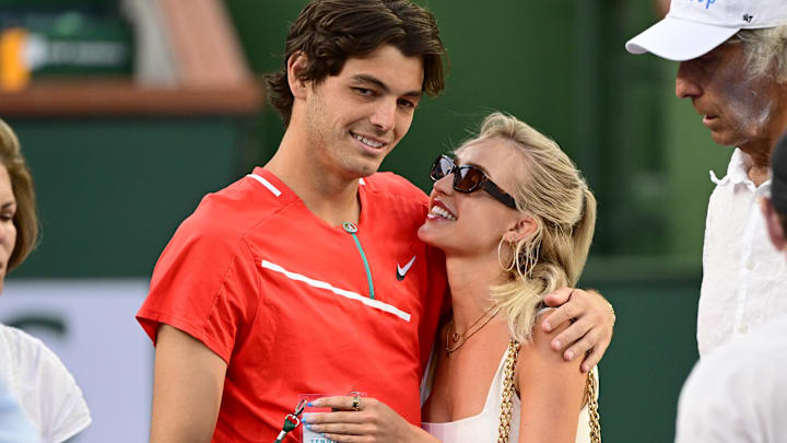
<instances>
[{"instance_id":1,"label":"older man in white cap and white shirt looking down","mask_svg":"<svg viewBox=\"0 0 787 443\"><path fill-rule=\"evenodd\" d=\"M787 264L767 241L756 201L771 188L771 151L787 129L787 1L672 0L626 43L680 61L676 95L691 98L718 144L736 147L710 196L697 315L700 357L787 315Z\"/></svg>"}]
</instances>

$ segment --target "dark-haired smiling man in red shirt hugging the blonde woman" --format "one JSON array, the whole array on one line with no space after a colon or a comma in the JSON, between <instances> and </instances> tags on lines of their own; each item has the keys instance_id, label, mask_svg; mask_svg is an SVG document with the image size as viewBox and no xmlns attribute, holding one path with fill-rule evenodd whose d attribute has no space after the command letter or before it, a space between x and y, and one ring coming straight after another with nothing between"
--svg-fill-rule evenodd
<instances>
[{"instance_id":1,"label":"dark-haired smiling man in red shirt hugging the blonde woman","mask_svg":"<svg viewBox=\"0 0 787 443\"><path fill-rule=\"evenodd\" d=\"M315 0L298 15L269 78L277 153L180 225L138 314L156 343L153 442L273 441L299 394L367 393L420 424L444 257L416 237L426 196L376 172L443 89L444 53L409 0ZM577 292L577 324L596 328L575 328L573 349L600 358L611 314Z\"/></svg>"}]
</instances>

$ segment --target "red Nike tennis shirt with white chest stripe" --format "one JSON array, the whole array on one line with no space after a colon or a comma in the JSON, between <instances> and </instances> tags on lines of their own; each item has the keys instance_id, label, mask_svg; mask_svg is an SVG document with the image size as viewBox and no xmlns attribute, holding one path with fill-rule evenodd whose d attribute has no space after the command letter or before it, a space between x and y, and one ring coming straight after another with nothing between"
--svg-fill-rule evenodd
<instances>
[{"instance_id":1,"label":"red Nike tennis shirt with white chest stripe","mask_svg":"<svg viewBox=\"0 0 787 443\"><path fill-rule=\"evenodd\" d=\"M154 342L165 323L226 361L213 441L273 441L298 394L364 392L420 423L444 257L416 236L416 187L378 173L359 196L353 235L258 167L205 196L164 249L137 318Z\"/></svg>"}]
</instances>

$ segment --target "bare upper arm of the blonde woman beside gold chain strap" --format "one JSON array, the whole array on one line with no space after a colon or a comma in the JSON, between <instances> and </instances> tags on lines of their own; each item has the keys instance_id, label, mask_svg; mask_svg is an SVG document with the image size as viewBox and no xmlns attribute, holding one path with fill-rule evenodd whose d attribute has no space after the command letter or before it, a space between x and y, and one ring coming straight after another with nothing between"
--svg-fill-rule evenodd
<instances>
[{"instance_id":1,"label":"bare upper arm of the blonde woman beside gold chain strap","mask_svg":"<svg viewBox=\"0 0 787 443\"><path fill-rule=\"evenodd\" d=\"M550 346L569 324L547 333L540 327L545 317L539 316L532 340L519 349L519 442L574 443L587 374L580 370L580 359L566 361Z\"/></svg>"}]
</instances>

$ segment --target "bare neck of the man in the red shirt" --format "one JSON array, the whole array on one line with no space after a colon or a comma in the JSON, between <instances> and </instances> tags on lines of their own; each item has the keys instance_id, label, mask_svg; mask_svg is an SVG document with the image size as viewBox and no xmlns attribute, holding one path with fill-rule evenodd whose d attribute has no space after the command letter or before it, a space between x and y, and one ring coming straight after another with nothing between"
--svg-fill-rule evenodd
<instances>
[{"instance_id":1,"label":"bare neck of the man in the red shirt","mask_svg":"<svg viewBox=\"0 0 787 443\"><path fill-rule=\"evenodd\" d=\"M265 168L292 189L306 207L331 226L357 223L361 215L359 179L317 164L287 131Z\"/></svg>"}]
</instances>

